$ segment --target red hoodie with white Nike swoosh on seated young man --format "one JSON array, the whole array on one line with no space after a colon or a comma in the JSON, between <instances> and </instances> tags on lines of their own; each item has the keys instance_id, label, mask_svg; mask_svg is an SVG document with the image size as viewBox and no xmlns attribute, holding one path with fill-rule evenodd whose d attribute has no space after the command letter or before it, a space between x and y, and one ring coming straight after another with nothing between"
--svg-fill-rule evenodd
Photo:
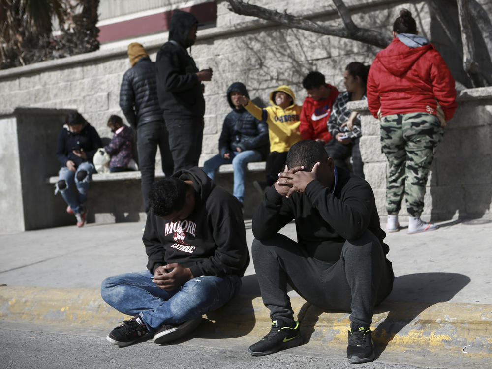
<instances>
[{"instance_id":1,"label":"red hoodie with white Nike swoosh on seated young man","mask_svg":"<svg viewBox=\"0 0 492 369\"><path fill-rule=\"evenodd\" d=\"M332 112L332 106L340 93L335 86L326 84L326 87L330 88L330 96L322 100L313 100L310 97L306 97L303 103L303 110L299 116L301 124L299 130L301 131L302 140L316 140L322 138L325 143L332 139L332 135L328 132L328 118Z\"/></svg>"}]
</instances>

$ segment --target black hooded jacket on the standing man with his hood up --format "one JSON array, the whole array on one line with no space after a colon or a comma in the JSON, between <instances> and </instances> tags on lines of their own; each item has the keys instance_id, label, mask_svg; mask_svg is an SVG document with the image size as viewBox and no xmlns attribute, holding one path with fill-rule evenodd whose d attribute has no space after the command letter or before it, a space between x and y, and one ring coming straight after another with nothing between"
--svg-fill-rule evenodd
<instances>
[{"instance_id":1,"label":"black hooded jacket on the standing man with his hood up","mask_svg":"<svg viewBox=\"0 0 492 369\"><path fill-rule=\"evenodd\" d=\"M176 10L169 25L169 41L157 53L157 95L165 118L203 119L205 100L196 76L198 68L186 51L186 38L197 23L193 14Z\"/></svg>"}]
</instances>

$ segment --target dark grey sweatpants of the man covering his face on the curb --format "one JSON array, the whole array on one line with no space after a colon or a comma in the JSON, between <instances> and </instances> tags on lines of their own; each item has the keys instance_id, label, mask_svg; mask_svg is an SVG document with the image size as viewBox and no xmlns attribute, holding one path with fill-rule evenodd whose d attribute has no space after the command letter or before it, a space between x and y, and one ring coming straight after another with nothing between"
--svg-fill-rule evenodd
<instances>
[{"instance_id":1,"label":"dark grey sweatpants of the man covering his face on the curb","mask_svg":"<svg viewBox=\"0 0 492 369\"><path fill-rule=\"evenodd\" d=\"M393 288L391 262L369 231L358 240L346 241L334 264L310 257L301 245L281 234L255 239L252 255L261 297L272 320L294 320L287 283L311 304L351 312L350 320L365 327L372 322L374 306Z\"/></svg>"}]
</instances>

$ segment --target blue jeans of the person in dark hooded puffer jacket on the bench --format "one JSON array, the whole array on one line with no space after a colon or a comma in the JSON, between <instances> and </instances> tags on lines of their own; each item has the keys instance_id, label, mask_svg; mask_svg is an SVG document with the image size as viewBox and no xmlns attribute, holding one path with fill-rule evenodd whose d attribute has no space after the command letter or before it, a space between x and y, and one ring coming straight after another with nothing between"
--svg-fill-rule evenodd
<instances>
[{"instance_id":1,"label":"blue jeans of the person in dark hooded puffer jacket on the bench","mask_svg":"<svg viewBox=\"0 0 492 369\"><path fill-rule=\"evenodd\" d=\"M217 154L208 159L203 165L203 171L209 176L212 181L215 177L215 171L222 164L232 163L234 170L234 190L233 195L241 202L245 197L245 171L247 163L251 161L260 161L261 154L258 150L245 150L241 153L237 151L231 152L230 159L224 159L223 156Z\"/></svg>"}]
</instances>

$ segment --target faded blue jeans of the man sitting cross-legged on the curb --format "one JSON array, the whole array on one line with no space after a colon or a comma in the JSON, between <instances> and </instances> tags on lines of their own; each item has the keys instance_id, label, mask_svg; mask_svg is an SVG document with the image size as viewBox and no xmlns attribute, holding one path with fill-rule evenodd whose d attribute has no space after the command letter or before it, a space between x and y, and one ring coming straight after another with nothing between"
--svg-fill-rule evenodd
<instances>
[{"instance_id":1,"label":"faded blue jeans of the man sitting cross-legged on the curb","mask_svg":"<svg viewBox=\"0 0 492 369\"><path fill-rule=\"evenodd\" d=\"M216 310L241 288L238 276L202 276L168 292L157 287L152 277L144 270L108 277L101 285L104 301L123 314L140 315L151 333L163 323L183 323Z\"/></svg>"}]
</instances>

